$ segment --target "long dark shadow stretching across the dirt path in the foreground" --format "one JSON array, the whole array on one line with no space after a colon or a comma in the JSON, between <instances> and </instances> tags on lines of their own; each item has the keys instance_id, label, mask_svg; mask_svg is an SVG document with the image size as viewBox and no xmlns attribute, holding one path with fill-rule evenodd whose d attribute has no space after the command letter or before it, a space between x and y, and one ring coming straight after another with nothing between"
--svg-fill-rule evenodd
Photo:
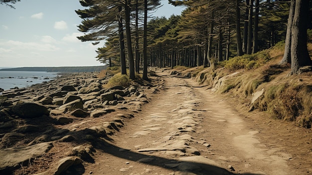
<instances>
[{"instance_id":1,"label":"long dark shadow stretching across the dirt path in the foreground","mask_svg":"<svg viewBox=\"0 0 312 175\"><path fill-rule=\"evenodd\" d=\"M228 170L218 167L217 163L201 156L183 157L179 160L170 160L152 155L145 155L131 150L123 149L106 142L103 139L97 139L93 143L97 150L101 150L112 156L142 164L156 166L175 172L181 172L179 175L237 175ZM188 174L189 173L189 174ZM245 173L239 175L263 175Z\"/></svg>"}]
</instances>

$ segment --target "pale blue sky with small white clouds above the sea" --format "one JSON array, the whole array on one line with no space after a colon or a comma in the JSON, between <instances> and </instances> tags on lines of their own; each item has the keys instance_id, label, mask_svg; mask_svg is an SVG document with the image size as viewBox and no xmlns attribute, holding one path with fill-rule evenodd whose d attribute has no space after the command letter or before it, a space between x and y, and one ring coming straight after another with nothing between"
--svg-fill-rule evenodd
<instances>
[{"instance_id":1,"label":"pale blue sky with small white clouds above the sea","mask_svg":"<svg viewBox=\"0 0 312 175\"><path fill-rule=\"evenodd\" d=\"M161 0L154 16L180 14L182 7ZM15 9L0 4L0 67L103 65L95 58L102 45L81 42L75 13L79 0L21 0Z\"/></svg>"}]
</instances>

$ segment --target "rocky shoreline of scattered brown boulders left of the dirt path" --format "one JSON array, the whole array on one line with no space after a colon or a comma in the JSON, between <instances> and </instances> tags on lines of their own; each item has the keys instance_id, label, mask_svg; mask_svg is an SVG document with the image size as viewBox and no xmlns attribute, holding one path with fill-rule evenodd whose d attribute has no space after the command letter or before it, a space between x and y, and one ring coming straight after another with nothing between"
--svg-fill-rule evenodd
<instances>
[{"instance_id":1,"label":"rocky shoreline of scattered brown boulders left of the dirt path","mask_svg":"<svg viewBox=\"0 0 312 175\"><path fill-rule=\"evenodd\" d=\"M151 94L163 89L158 77L103 88L109 78L91 72L63 74L3 91L0 174L60 175L73 165L83 171L84 163L93 160L94 148L106 145Z\"/></svg>"}]
</instances>

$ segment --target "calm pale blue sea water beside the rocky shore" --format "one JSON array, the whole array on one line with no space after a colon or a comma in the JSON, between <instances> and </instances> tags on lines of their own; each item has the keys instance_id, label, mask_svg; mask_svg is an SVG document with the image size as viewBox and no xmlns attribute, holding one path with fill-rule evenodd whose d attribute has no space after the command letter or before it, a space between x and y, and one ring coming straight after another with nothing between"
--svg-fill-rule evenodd
<instances>
[{"instance_id":1,"label":"calm pale blue sea water beside the rocky shore","mask_svg":"<svg viewBox=\"0 0 312 175\"><path fill-rule=\"evenodd\" d=\"M0 88L27 87L33 84L50 81L57 76L54 72L0 71Z\"/></svg>"}]
</instances>

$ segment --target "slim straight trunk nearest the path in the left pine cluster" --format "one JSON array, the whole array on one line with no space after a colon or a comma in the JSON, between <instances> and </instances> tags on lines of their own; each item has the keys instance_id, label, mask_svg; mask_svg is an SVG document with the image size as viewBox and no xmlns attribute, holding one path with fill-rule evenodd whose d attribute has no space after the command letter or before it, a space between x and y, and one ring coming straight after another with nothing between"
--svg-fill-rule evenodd
<instances>
[{"instance_id":1,"label":"slim straight trunk nearest the path in the left pine cluster","mask_svg":"<svg viewBox=\"0 0 312 175\"><path fill-rule=\"evenodd\" d=\"M143 29L143 76L144 80L149 80L148 77L148 0L144 0L144 29ZM152 62L152 61L151 61Z\"/></svg>"}]
</instances>

